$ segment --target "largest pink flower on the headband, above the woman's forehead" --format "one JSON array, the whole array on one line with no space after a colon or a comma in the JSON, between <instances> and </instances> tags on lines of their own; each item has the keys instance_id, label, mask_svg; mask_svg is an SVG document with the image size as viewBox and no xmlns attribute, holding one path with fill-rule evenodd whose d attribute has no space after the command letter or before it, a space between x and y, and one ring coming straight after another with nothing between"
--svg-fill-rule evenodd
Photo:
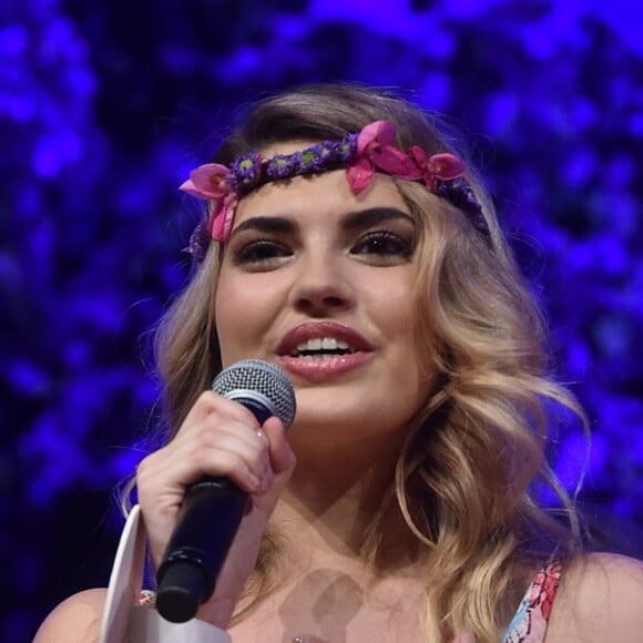
<instances>
[{"instance_id":1,"label":"largest pink flower on the headband, above the woman's forehead","mask_svg":"<svg viewBox=\"0 0 643 643\"><path fill-rule=\"evenodd\" d=\"M391 145L394 139L395 125L389 121L376 121L359 132L357 160L346 169L353 192L358 193L367 187L376 169L409 181L421 178L422 173L412 159Z\"/></svg>"}]
</instances>

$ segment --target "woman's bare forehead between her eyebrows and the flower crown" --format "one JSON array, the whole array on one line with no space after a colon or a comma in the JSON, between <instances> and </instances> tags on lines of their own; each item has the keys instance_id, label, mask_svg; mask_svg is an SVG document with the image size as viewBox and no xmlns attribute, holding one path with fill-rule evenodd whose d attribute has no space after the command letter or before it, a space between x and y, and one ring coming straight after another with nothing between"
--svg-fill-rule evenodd
<instances>
[{"instance_id":1,"label":"woman's bare forehead between her eyebrows and the flower crown","mask_svg":"<svg viewBox=\"0 0 643 643\"><path fill-rule=\"evenodd\" d=\"M261 153L266 159L275 154L293 154L313 143L279 143L261 150ZM341 215L346 212L385 206L410 214L408 205L389 176L376 173L368 187L354 194L346 180L345 170L335 170L275 181L251 192L239 201L233 227L253 216L296 216L307 213Z\"/></svg>"}]
</instances>

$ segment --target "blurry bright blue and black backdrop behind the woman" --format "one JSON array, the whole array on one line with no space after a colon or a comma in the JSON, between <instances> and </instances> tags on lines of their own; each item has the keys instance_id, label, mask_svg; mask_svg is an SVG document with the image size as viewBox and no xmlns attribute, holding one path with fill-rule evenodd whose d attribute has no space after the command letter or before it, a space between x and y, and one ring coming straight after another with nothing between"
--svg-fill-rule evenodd
<instances>
[{"instance_id":1,"label":"blurry bright blue and black backdrop behind the woman","mask_svg":"<svg viewBox=\"0 0 643 643\"><path fill-rule=\"evenodd\" d=\"M643 555L642 32L637 0L3 0L0 639L106 583L149 330L190 273L176 186L299 82L400 88L471 139L592 420L598 547ZM573 488L582 433L550 450Z\"/></svg>"}]
</instances>

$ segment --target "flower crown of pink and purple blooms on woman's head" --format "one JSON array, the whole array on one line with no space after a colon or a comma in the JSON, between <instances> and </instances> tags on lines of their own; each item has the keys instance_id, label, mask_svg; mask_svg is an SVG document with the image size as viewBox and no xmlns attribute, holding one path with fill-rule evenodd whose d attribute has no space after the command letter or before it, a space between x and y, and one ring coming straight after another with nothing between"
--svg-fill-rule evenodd
<instances>
[{"instance_id":1,"label":"flower crown of pink and purple blooms on woman's head","mask_svg":"<svg viewBox=\"0 0 643 643\"><path fill-rule=\"evenodd\" d=\"M229 167L220 163L196 167L180 190L211 200L212 210L207 222L197 225L192 233L186 252L201 262L211 238L225 243L239 198L261 185L341 167L346 169L346 178L354 194L368 187L376 171L421 182L429 192L470 215L473 225L488 236L482 208L462 178L466 170L462 161L450 153L427 156L417 145L407 154L391 144L395 134L392 123L376 121L358 133L347 134L338 141L323 141L294 154L264 159L258 152L249 152L238 156Z\"/></svg>"}]
</instances>

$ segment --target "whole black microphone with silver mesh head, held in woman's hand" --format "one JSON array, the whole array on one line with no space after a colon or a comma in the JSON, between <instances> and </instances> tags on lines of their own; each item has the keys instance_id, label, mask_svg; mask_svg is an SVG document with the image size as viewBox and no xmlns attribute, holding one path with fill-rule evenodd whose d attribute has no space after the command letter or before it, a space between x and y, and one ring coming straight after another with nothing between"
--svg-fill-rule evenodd
<instances>
[{"instance_id":1,"label":"whole black microphone with silver mesh head, held in woman's hand","mask_svg":"<svg viewBox=\"0 0 643 643\"><path fill-rule=\"evenodd\" d=\"M237 361L215 377L212 388L249 409L261 425L272 416L286 429L293 423L293 385L267 361ZM156 573L156 610L164 619L184 623L212 596L247 500L248 494L224 477L202 478L187 488Z\"/></svg>"}]
</instances>

